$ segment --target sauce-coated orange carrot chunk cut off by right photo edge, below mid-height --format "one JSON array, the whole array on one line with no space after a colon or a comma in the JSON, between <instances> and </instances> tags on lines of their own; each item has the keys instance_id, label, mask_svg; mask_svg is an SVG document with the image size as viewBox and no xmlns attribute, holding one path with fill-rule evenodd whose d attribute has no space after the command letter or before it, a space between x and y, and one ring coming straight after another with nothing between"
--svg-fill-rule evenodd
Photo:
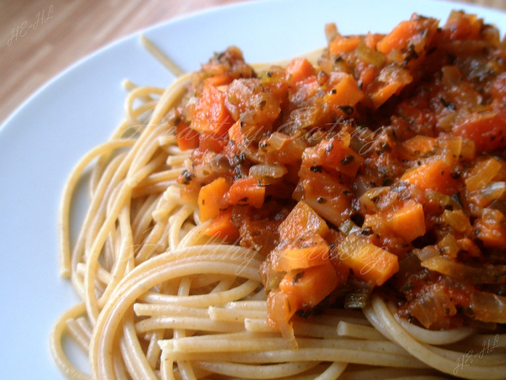
<instances>
[{"instance_id":1,"label":"sauce-coated orange carrot chunk cut off by right photo edge, below mid-height","mask_svg":"<svg viewBox=\"0 0 506 380\"><path fill-rule=\"evenodd\" d=\"M496 209L485 208L475 224L476 237L486 247L506 249L506 216Z\"/></svg>"}]
</instances>

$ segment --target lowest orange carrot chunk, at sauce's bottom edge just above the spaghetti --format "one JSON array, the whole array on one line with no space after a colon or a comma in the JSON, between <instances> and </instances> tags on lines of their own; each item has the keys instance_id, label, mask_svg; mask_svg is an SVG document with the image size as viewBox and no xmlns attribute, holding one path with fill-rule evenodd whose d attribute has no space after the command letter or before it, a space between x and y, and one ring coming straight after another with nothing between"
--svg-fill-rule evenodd
<instances>
[{"instance_id":1,"label":"lowest orange carrot chunk, at sauce's bottom edge just above the spaghetti","mask_svg":"<svg viewBox=\"0 0 506 380\"><path fill-rule=\"evenodd\" d=\"M279 289L299 298L301 306L314 307L336 286L338 278L332 264L327 260L317 267L287 273L281 280ZM298 302L294 303L297 305Z\"/></svg>"}]
</instances>

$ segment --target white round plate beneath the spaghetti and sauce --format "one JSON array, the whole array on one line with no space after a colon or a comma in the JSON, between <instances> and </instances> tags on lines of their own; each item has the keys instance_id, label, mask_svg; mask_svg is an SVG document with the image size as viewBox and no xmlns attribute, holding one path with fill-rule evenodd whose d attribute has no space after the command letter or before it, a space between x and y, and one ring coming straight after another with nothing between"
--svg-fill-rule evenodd
<instances>
[{"instance_id":1,"label":"white round plate beneath the spaghetti and sauce","mask_svg":"<svg viewBox=\"0 0 506 380\"><path fill-rule=\"evenodd\" d=\"M504 13L441 1L274 0L213 9L144 32L193 70L228 45L240 47L249 62L277 60L323 46L327 22L345 34L387 32L413 12L444 22L454 8L506 25ZM77 296L58 277L59 198L74 163L122 119L125 78L159 86L173 79L141 47L138 34L131 35L58 75L0 129L1 378L62 378L48 334Z\"/></svg>"}]
</instances>

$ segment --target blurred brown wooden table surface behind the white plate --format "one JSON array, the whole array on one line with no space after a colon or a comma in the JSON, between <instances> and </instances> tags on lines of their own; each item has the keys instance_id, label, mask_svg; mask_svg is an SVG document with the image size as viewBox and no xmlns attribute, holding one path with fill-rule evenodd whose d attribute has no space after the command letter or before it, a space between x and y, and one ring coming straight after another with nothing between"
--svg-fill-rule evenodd
<instances>
[{"instance_id":1,"label":"blurred brown wooden table surface behind the white plate","mask_svg":"<svg viewBox=\"0 0 506 380\"><path fill-rule=\"evenodd\" d=\"M78 59L146 26L251 0L0 0L0 123ZM460 0L506 10L506 0Z\"/></svg>"}]
</instances>

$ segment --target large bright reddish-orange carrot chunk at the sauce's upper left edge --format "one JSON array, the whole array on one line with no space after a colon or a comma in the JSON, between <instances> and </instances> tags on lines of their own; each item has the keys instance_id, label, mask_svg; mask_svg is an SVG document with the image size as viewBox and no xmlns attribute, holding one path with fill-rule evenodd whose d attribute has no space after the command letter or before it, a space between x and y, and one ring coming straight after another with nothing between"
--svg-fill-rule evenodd
<instances>
[{"instance_id":1,"label":"large bright reddish-orange carrot chunk at the sauce's upper left edge","mask_svg":"<svg viewBox=\"0 0 506 380\"><path fill-rule=\"evenodd\" d=\"M233 120L225 106L226 95L209 82L204 83L202 94L195 104L190 127L197 132L223 136L232 126Z\"/></svg>"}]
</instances>

